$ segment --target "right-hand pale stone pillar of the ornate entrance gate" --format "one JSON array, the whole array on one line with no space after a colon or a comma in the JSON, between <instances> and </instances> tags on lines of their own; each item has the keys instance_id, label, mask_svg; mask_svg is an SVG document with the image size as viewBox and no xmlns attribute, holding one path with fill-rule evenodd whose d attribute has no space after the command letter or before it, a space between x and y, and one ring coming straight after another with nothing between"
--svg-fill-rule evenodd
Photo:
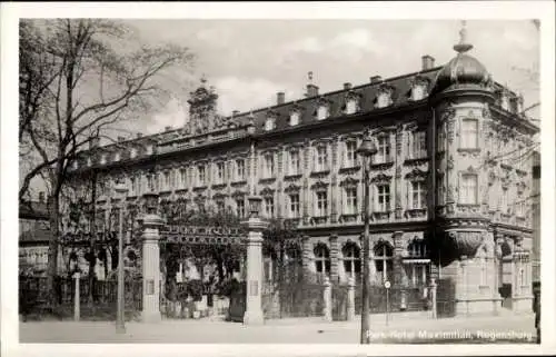
<instances>
[{"instance_id":1,"label":"right-hand pale stone pillar of the ornate entrance gate","mask_svg":"<svg viewBox=\"0 0 556 357\"><path fill-rule=\"evenodd\" d=\"M244 314L245 325L261 325L265 323L262 314L261 285L262 285L262 230L267 222L258 217L247 221L249 229L247 236L247 297Z\"/></svg>"}]
</instances>

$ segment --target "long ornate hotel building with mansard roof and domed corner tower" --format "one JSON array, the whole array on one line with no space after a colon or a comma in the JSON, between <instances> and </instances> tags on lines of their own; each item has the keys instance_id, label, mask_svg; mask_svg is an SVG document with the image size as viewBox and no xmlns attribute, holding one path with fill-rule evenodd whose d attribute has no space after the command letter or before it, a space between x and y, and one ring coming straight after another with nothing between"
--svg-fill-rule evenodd
<instances>
[{"instance_id":1,"label":"long ornate hotel building with mansard roof and domed corner tower","mask_svg":"<svg viewBox=\"0 0 556 357\"><path fill-rule=\"evenodd\" d=\"M229 117L216 112L218 95L202 80L183 127L92 146L72 173L97 172L101 220L119 180L129 187L130 210L157 191L161 207L229 207L245 217L247 197L259 195L264 216L287 219L304 237L304 267L346 281L361 270L357 148L369 135L377 148L369 168L371 279L420 286L451 278L458 311L528 309L526 152L539 129L523 115L523 98L494 81L471 48L463 30L444 66L424 56L413 73L327 93L310 82L305 98L286 101L279 92L269 108Z\"/></svg>"}]
</instances>

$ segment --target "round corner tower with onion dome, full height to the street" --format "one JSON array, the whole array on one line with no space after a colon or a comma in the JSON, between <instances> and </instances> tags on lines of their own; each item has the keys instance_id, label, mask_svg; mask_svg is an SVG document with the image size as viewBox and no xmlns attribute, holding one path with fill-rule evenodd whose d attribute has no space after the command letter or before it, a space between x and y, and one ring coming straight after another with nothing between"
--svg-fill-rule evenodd
<instances>
[{"instance_id":1,"label":"round corner tower with onion dome, full height to the street","mask_svg":"<svg viewBox=\"0 0 556 357\"><path fill-rule=\"evenodd\" d=\"M434 260L456 286L456 314L496 310L495 240L487 200L488 160L483 130L494 102L490 75L469 56L465 21L457 52L437 75L430 101L436 119Z\"/></svg>"}]
</instances>

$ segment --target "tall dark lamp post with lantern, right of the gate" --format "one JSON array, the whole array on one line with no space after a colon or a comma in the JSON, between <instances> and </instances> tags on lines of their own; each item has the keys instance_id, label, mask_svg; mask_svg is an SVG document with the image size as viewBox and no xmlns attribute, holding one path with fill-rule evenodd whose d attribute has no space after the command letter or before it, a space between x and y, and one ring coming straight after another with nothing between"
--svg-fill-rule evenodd
<instances>
[{"instance_id":1,"label":"tall dark lamp post with lantern, right of the gate","mask_svg":"<svg viewBox=\"0 0 556 357\"><path fill-rule=\"evenodd\" d=\"M371 157L377 153L375 142L367 131L364 135L361 146L357 149L357 153L363 157L363 177L365 185L364 198L364 219L365 231L363 235L363 310L361 310L361 345L369 343L370 324L369 324L369 290L370 290L370 267L369 267L369 167Z\"/></svg>"}]
</instances>

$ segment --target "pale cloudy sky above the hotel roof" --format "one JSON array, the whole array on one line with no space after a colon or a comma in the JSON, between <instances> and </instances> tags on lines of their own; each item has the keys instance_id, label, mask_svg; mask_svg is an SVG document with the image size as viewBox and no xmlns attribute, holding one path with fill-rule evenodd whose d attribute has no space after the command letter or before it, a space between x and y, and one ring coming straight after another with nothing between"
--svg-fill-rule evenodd
<instances>
[{"instance_id":1,"label":"pale cloudy sky above the hotel roof","mask_svg":"<svg viewBox=\"0 0 556 357\"><path fill-rule=\"evenodd\" d=\"M193 90L206 76L219 95L218 110L248 111L271 106L276 92L301 98L312 71L320 92L354 86L371 76L395 77L418 71L421 56L448 62L459 39L459 20L123 20L147 44L189 47L197 59L189 73L167 79L168 86ZM538 83L520 69L537 71L539 36L529 20L470 20L469 54L494 79L523 92L525 106L539 101ZM518 69L515 69L518 68ZM177 83L180 81L180 83ZM158 113L137 118L131 127L153 133L187 120L187 92ZM535 112L532 112L535 115Z\"/></svg>"}]
</instances>

